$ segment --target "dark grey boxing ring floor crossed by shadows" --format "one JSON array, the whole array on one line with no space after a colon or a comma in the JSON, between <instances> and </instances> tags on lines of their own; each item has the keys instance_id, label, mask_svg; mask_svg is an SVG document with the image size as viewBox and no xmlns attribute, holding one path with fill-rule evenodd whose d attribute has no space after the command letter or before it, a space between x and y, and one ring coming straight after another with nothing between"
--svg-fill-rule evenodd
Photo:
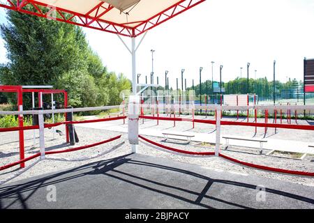
<instances>
[{"instance_id":1,"label":"dark grey boxing ring floor crossed by shadows","mask_svg":"<svg viewBox=\"0 0 314 223\"><path fill-rule=\"evenodd\" d=\"M54 189L56 201L49 202ZM314 208L314 193L299 184L131 154L3 185L0 208Z\"/></svg>"}]
</instances>

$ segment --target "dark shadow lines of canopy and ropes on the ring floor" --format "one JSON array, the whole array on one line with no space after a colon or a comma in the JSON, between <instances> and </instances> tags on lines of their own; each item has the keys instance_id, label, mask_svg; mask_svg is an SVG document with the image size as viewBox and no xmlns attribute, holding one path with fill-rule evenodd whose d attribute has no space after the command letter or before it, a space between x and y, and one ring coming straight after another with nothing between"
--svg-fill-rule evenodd
<instances>
[{"instance_id":1,"label":"dark shadow lines of canopy and ropes on the ring floor","mask_svg":"<svg viewBox=\"0 0 314 223\"><path fill-rule=\"evenodd\" d=\"M130 154L129 154L130 155ZM0 209L4 208L10 208L10 206L13 206L15 203L20 203L22 208L27 209L28 206L28 199L33 196L33 194L39 190L42 187L47 187L47 185L57 185L57 183L62 183L67 180L75 180L75 178L81 178L83 176L92 174L92 175L105 175L109 176L110 178L115 178L117 180L120 180L121 182L128 183L129 185L133 185L135 187L141 187L144 190L149 190L154 193L163 194L168 197L172 197L174 199L179 199L181 201L185 201L187 203L191 203L197 206L200 206L200 208L214 208L212 206L209 206L205 203L202 203L202 200L205 199L211 199L214 201L219 201L220 203L225 203L229 206L234 206L234 208L251 208L249 206L243 206L239 203L233 203L231 201L225 201L223 199L218 199L216 197L212 197L207 195L208 190L211 188L211 185L214 183L220 183L224 185L233 185L236 187L244 187L247 189L256 190L257 185L252 185L248 183L241 183L237 181L232 180L220 180L215 178L209 178L208 176L204 176L202 174L197 174L193 171L188 171L186 169L179 169L175 167L169 167L161 164L156 164L152 162L144 162L140 160L133 160L132 157L128 157L129 155L124 155L121 157L116 157L114 159L110 160L103 160L100 162L94 162L91 164L85 164L82 167L77 167L74 169L70 169L67 171L63 171L57 174L52 174L51 176L46 176L43 178L39 178L37 180L32 180L27 183L17 184L17 185L9 185L6 187L0 188ZM196 192L193 190L190 190L189 188L182 188L179 186L174 185L168 185L166 183L161 183L157 180L150 180L148 178L142 178L141 176L137 176L134 174L127 173L126 171L121 171L117 169L117 167L124 165L124 164L133 164L142 166L143 168L152 167L156 169L160 169L163 171L174 171L181 174L186 174L188 176L193 176L195 178L200 178L202 180L206 180L207 183L204 185L204 188L201 192ZM92 170L91 170L92 169ZM85 171L84 171L85 170ZM77 171L79 171L77 173ZM63 176L66 174L71 174L70 176ZM117 174L119 176L117 176ZM131 179L130 179L131 178ZM134 180L133 180L134 179ZM137 182L136 182L137 180ZM144 183L138 183L138 180L140 182ZM73 182L75 183L75 182ZM156 187L149 186L151 184L167 187L167 189L172 190L179 190L180 192L185 192L188 194L193 194L197 197L197 199L188 199L184 197L183 195L180 195L178 193L172 193L170 190L159 190ZM87 189L87 188L85 188ZM88 189L87 189L88 190ZM291 199L296 199L298 201L304 201L306 203L314 204L314 199L309 199L307 197L302 197L297 194L291 194L289 192L283 192L281 190L274 190L271 188L266 188L266 192L272 193L272 194L278 194L283 197L289 197ZM27 195L26 195L27 194ZM13 202L9 204L3 203L2 199L14 199ZM126 198L127 199L127 198ZM42 207L45 208L45 207Z\"/></svg>"}]
</instances>

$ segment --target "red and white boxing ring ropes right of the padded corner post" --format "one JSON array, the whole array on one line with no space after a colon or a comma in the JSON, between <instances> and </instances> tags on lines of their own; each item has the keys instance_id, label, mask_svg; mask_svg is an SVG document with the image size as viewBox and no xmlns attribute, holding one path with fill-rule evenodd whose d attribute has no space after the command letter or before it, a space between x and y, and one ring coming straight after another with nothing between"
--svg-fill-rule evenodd
<instances>
[{"instance_id":1,"label":"red and white boxing ring ropes right of the padded corner post","mask_svg":"<svg viewBox=\"0 0 314 223\"><path fill-rule=\"evenodd\" d=\"M142 105L143 106L143 105ZM173 106L173 105L172 105ZM169 106L163 106L169 107ZM171 108L170 108L171 109ZM192 109L211 109L215 110L217 112L222 112L223 110L234 110L234 111L246 111L248 109L260 109L260 110L265 110L265 111L282 111L283 109L287 109L288 111L290 110L314 110L313 105L305 105L305 106L291 106L291 105L269 105L269 106L264 106L264 105L252 105L252 106L217 106L217 105L211 105L211 106L194 106ZM175 111L172 109L172 111ZM152 120L162 120L162 121L186 121L186 122L193 122L193 123L205 123L205 124L211 124L211 125L216 125L216 148L215 148L215 153L209 152L209 153L198 153L198 152L192 152L192 151L182 151L177 148L171 148L170 146L165 146L162 144L158 144L154 141L151 141L145 137L139 136L140 139L147 141L149 144L152 144L154 146L158 146L160 148L163 148L168 151L174 151L177 153L183 153L183 154L189 154L189 155L216 155L217 157L221 157L225 160L228 160L230 162L234 162L237 164L241 164L246 167L251 167L255 169L262 169L264 171L271 171L271 172L276 172L280 174L291 174L291 175L297 175L297 176L314 176L314 172L308 172L308 171L294 171L294 170L289 170L289 169L281 169L281 168L276 168L276 167L267 167L259 164L253 164L249 162L244 162L241 160L234 159L233 157L229 157L227 155L224 155L220 153L220 126L221 125L238 125L238 126L251 126L251 127L260 127L260 128L284 128L284 129L294 129L294 130L314 130L313 125L294 125L291 123L283 124L282 122L279 123L246 123L246 122L238 122L238 121L223 121L221 120L222 117L216 116L216 120L200 120L200 119L194 119L194 118L167 118L167 117L152 117L152 116L139 116L139 118L143 119L152 119Z\"/></svg>"}]
</instances>

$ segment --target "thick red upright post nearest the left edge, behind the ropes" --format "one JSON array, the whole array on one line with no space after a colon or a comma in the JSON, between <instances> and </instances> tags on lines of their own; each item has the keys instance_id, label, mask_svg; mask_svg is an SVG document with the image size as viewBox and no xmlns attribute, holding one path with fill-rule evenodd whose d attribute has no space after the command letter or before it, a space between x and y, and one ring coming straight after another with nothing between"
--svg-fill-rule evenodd
<instances>
[{"instance_id":1,"label":"thick red upright post nearest the left edge, behind the ropes","mask_svg":"<svg viewBox=\"0 0 314 223\"><path fill-rule=\"evenodd\" d=\"M23 110L23 90L22 90L22 86L19 87L19 89L17 90L17 107L18 107L18 111L22 112ZM24 118L23 115L20 114L18 117L18 123L19 123L19 127L23 127L24 123ZM25 155L24 155L24 130L19 130L19 139L20 139L20 160L24 160ZM25 167L25 163L22 162L20 164L20 168L24 168Z\"/></svg>"}]
</instances>

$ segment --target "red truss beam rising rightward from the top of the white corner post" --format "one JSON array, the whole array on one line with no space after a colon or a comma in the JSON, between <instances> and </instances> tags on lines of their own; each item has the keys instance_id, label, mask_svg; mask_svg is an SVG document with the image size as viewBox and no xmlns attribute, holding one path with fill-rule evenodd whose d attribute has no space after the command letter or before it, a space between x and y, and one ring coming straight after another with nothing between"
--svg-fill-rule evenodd
<instances>
[{"instance_id":1,"label":"red truss beam rising rightward from the top of the white corner post","mask_svg":"<svg viewBox=\"0 0 314 223\"><path fill-rule=\"evenodd\" d=\"M182 0L178 3L166 8L162 12L154 15L148 20L141 22L137 26L135 26L135 36L140 36L142 33L148 31L149 29L153 29L154 27L163 24L167 20L172 19L173 17L184 13L186 10L197 6L198 4L204 2L206 0Z\"/></svg>"}]
</instances>

